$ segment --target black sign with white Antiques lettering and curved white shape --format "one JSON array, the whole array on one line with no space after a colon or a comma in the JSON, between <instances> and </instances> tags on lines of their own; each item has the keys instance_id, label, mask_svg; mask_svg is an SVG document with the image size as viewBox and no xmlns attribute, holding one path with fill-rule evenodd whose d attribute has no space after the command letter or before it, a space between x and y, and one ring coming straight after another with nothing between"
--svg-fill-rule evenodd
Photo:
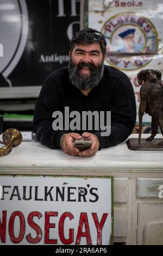
<instances>
[{"instance_id":1,"label":"black sign with white Antiques lettering and curved white shape","mask_svg":"<svg viewBox=\"0 0 163 256\"><path fill-rule=\"evenodd\" d=\"M0 86L40 86L68 64L80 1L1 0L1 5Z\"/></svg>"}]
</instances>

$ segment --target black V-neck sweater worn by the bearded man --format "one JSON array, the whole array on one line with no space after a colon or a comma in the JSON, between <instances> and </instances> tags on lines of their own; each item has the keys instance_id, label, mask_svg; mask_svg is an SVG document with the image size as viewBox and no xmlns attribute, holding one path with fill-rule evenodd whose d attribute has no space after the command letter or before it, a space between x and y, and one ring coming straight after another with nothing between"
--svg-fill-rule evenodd
<instances>
[{"instance_id":1,"label":"black V-neck sweater worn by the bearded man","mask_svg":"<svg viewBox=\"0 0 163 256\"><path fill-rule=\"evenodd\" d=\"M61 148L60 137L67 132L82 130L54 131L52 123L54 111L64 114L65 107L69 111L111 111L111 134L101 136L101 131L87 130L98 136L100 148L109 148L123 142L134 128L136 120L136 104L133 86L122 71L105 66L104 75L98 86L85 96L68 80L67 67L60 68L49 75L43 83L37 99L33 129L37 140L49 148Z\"/></svg>"}]
</instances>

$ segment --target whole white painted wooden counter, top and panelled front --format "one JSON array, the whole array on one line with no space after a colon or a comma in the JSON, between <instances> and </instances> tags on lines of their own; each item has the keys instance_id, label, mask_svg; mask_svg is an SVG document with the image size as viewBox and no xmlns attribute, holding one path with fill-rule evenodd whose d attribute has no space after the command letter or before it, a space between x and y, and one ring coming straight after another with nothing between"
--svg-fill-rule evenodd
<instances>
[{"instance_id":1,"label":"whole white painted wooden counter, top and panelled front","mask_svg":"<svg viewBox=\"0 0 163 256\"><path fill-rule=\"evenodd\" d=\"M114 176L114 241L163 245L163 151L131 151L124 142L82 158L33 139L0 157L0 174Z\"/></svg>"}]
</instances>

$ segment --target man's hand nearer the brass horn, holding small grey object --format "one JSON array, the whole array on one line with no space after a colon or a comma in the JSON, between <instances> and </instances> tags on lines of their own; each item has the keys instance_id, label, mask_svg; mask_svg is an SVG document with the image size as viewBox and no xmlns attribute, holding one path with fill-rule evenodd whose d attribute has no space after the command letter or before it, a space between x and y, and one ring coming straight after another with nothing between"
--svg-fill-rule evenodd
<instances>
[{"instance_id":1,"label":"man's hand nearer the brass horn, holding small grey object","mask_svg":"<svg viewBox=\"0 0 163 256\"><path fill-rule=\"evenodd\" d=\"M70 132L70 133L64 133L60 138L60 146L62 150L68 155L78 156L79 155L79 149L73 147L73 142L76 139L82 139L82 136L79 135L79 133Z\"/></svg>"}]
</instances>

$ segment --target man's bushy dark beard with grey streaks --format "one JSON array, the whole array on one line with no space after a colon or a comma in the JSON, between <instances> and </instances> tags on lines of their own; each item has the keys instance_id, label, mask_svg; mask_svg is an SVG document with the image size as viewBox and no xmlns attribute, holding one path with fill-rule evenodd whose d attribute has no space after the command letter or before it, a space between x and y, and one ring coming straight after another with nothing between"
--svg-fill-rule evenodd
<instances>
[{"instance_id":1,"label":"man's bushy dark beard with grey streaks","mask_svg":"<svg viewBox=\"0 0 163 256\"><path fill-rule=\"evenodd\" d=\"M91 75L79 74L81 68L89 68ZM95 66L92 63L80 62L78 65L74 65L72 60L68 63L69 79L73 86L80 90L87 90L96 87L101 81L104 73L104 62Z\"/></svg>"}]
</instances>

